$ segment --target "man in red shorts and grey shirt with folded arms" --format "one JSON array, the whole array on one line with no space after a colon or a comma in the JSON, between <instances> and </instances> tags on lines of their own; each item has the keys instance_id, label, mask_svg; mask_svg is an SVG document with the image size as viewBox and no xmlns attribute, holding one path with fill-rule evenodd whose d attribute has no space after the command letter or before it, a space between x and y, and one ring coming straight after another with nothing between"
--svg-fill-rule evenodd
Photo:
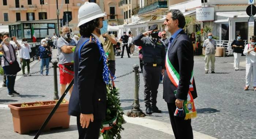
<instances>
[{"instance_id":1,"label":"man in red shorts and grey shirt with folded arms","mask_svg":"<svg viewBox=\"0 0 256 139\"><path fill-rule=\"evenodd\" d=\"M72 48L76 46L76 43L71 39L70 29L67 26L62 28L62 35L58 39L58 57L59 57L59 69L60 69L60 93L64 93L66 86L74 78L74 52ZM67 73L68 72L68 73ZM73 87L69 90L71 94ZM58 95L55 95L58 96ZM57 97L54 99L58 99Z\"/></svg>"}]
</instances>

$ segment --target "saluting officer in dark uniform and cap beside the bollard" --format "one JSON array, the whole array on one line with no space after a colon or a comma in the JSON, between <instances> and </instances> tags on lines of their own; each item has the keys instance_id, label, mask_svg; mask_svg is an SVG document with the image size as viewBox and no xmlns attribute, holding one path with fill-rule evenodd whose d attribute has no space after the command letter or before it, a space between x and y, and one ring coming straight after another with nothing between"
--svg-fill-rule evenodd
<instances>
[{"instance_id":1,"label":"saluting officer in dark uniform and cap beside the bollard","mask_svg":"<svg viewBox=\"0 0 256 139\"><path fill-rule=\"evenodd\" d=\"M144 102L146 113L161 113L157 108L157 89L160 74L165 69L165 45L158 39L159 30L157 24L151 26L149 31L136 36L132 43L142 46L143 51L143 77L145 82ZM150 34L151 37L143 37Z\"/></svg>"}]
</instances>

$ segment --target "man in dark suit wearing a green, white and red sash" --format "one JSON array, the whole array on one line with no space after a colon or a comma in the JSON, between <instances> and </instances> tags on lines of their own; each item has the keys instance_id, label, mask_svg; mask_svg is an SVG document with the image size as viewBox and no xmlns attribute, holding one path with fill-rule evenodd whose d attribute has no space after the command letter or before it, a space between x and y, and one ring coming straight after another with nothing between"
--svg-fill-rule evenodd
<instances>
[{"instance_id":1,"label":"man in dark suit wearing a green, white and red sash","mask_svg":"<svg viewBox=\"0 0 256 139\"><path fill-rule=\"evenodd\" d=\"M165 30L172 34L169 39L166 70L163 79L163 99L167 103L170 121L176 139L193 139L191 119L184 120L185 115L174 116L176 108L182 109L184 100L187 100L191 74L193 70L193 45L188 35L182 30L185 26L185 18L178 9L172 9L167 13L164 22ZM170 65L173 69L168 69ZM176 83L169 70L176 70ZM175 93L175 94L174 94ZM197 97L195 82L193 82L193 99Z\"/></svg>"}]
</instances>

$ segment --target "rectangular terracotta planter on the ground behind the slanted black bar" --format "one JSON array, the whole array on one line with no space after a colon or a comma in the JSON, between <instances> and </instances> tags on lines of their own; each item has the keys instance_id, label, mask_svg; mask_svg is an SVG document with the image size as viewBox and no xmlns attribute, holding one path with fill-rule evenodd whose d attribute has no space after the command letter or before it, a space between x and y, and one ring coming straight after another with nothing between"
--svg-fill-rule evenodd
<instances>
[{"instance_id":1,"label":"rectangular terracotta planter on the ground behind the slanted black bar","mask_svg":"<svg viewBox=\"0 0 256 139\"><path fill-rule=\"evenodd\" d=\"M42 101L43 103L50 103L54 101ZM34 103L27 103L29 105ZM29 131L39 130L52 111L54 104L20 107L20 104L9 104L11 109L12 120L14 125L14 132L19 134L26 134ZM69 128L70 116L68 115L68 103L60 104L57 111L54 113L44 130L50 130L50 128L62 127Z\"/></svg>"}]
</instances>

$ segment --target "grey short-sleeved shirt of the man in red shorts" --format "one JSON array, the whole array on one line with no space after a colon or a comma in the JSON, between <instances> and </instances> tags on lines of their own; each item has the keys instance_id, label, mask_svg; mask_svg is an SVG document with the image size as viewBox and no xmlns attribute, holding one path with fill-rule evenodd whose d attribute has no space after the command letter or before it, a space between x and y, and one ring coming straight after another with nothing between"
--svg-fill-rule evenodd
<instances>
[{"instance_id":1,"label":"grey short-sleeved shirt of the man in red shorts","mask_svg":"<svg viewBox=\"0 0 256 139\"><path fill-rule=\"evenodd\" d=\"M71 42L68 43L63 37L60 37L57 42L57 47L58 47L58 57L59 57L59 63L64 64L64 63L70 63L74 60L74 52L72 53L64 53L61 50L61 47L63 46L76 46L76 43L73 39L71 39Z\"/></svg>"}]
</instances>

